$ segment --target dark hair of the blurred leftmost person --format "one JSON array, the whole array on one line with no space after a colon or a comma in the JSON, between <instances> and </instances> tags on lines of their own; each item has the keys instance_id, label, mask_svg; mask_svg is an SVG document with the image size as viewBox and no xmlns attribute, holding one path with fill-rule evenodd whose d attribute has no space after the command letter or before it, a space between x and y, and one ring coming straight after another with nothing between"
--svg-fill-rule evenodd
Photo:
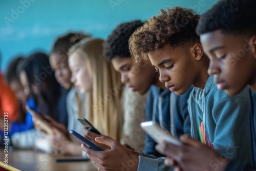
<instances>
[{"instance_id":1,"label":"dark hair of the blurred leftmost person","mask_svg":"<svg viewBox=\"0 0 256 171\"><path fill-rule=\"evenodd\" d=\"M14 59L12 59L9 62L9 65L7 67L6 74L5 74L5 78L8 83L11 83L15 79L19 80L17 67L18 67L20 61L22 61L22 60L24 60L23 56L17 56L17 57L14 57Z\"/></svg>"}]
</instances>

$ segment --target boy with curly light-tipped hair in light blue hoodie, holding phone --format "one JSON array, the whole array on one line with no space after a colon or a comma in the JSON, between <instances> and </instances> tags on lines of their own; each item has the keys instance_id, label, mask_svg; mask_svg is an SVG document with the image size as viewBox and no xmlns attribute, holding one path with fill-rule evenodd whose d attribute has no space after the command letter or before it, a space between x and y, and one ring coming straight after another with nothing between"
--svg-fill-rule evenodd
<instances>
[{"instance_id":1,"label":"boy with curly light-tipped hair in light blue hoodie, holding phone","mask_svg":"<svg viewBox=\"0 0 256 171\"><path fill-rule=\"evenodd\" d=\"M234 97L217 91L213 77L207 74L209 59L195 32L198 19L199 15L194 11L181 7L161 10L133 33L130 38L132 56L137 63L148 56L159 71L160 80L176 94L184 94L191 85L195 87L188 100L193 138L201 139L228 158L252 162L248 90L244 89ZM228 118L230 113L232 117ZM236 135L231 134L233 132ZM83 145L83 150L99 168L120 169L126 164L130 170L164 169L162 159L138 157L106 137L95 140L112 147L106 155L106 152L94 152ZM234 149L232 153L226 152L228 147Z\"/></svg>"}]
</instances>

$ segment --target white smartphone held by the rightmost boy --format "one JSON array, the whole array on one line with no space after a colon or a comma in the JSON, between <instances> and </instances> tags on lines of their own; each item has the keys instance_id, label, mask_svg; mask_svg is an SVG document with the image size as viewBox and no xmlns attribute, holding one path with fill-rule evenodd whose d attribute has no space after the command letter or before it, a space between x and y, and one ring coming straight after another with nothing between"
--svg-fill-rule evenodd
<instances>
[{"instance_id":1,"label":"white smartphone held by the rightmost boy","mask_svg":"<svg viewBox=\"0 0 256 171\"><path fill-rule=\"evenodd\" d=\"M179 145L179 146L182 145L181 141L178 138L175 138L172 134L170 134L168 130L162 128L155 121L141 122L140 126L157 143L159 143L161 140L165 140L175 145Z\"/></svg>"}]
</instances>

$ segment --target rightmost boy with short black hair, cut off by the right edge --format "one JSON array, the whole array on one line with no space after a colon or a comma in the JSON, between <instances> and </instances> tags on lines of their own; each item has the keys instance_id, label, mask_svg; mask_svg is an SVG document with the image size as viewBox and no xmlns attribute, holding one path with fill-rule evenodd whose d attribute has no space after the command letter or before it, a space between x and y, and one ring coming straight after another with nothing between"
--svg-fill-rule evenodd
<instances>
[{"instance_id":1,"label":"rightmost boy with short black hair, cut off by the right edge","mask_svg":"<svg viewBox=\"0 0 256 171\"><path fill-rule=\"evenodd\" d=\"M203 49L210 59L208 73L214 75L218 89L225 90L231 96L241 92L246 84L249 84L250 88L256 92L256 22L252 19L256 18L255 10L255 0L220 1L202 15L197 26ZM253 93L251 96L253 115L250 118L254 140L254 164L255 97ZM234 124L239 124L239 122ZM160 143L158 150L176 160L183 169L251 170L245 162L228 162L225 156L219 155L191 138L184 137L183 143L188 144L187 151L184 151L184 147L177 147L166 142ZM250 149L246 150L250 151ZM186 161L186 157L195 154L197 158ZM177 158L176 156L179 155L183 157ZM166 164L173 165L173 160L166 159Z\"/></svg>"}]
</instances>

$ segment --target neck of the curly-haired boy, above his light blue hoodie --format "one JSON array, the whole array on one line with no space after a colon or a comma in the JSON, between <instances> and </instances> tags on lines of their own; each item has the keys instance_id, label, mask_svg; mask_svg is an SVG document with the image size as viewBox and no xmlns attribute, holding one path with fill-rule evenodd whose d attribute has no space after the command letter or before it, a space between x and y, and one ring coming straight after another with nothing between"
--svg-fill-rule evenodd
<instances>
[{"instance_id":1,"label":"neck of the curly-haired boy, above his light blue hoodie","mask_svg":"<svg viewBox=\"0 0 256 171\"><path fill-rule=\"evenodd\" d=\"M201 67L198 72L198 77L195 79L193 86L196 88L199 88L201 90L204 89L205 84L209 78L209 75L207 73L208 67L209 67L209 59L207 56L204 57L203 63L199 66Z\"/></svg>"}]
</instances>

